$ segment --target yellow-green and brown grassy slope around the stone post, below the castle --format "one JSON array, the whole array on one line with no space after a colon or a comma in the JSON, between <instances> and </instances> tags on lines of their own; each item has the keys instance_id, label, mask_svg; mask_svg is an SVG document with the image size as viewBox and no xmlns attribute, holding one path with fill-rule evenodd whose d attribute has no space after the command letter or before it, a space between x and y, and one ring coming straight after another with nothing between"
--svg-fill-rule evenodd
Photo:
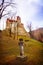
<instances>
[{"instance_id":1,"label":"yellow-green and brown grassy slope around the stone post, below the castle","mask_svg":"<svg viewBox=\"0 0 43 65\"><path fill-rule=\"evenodd\" d=\"M24 52L28 57L26 61L17 60L19 55L18 40L7 36L6 31L0 32L0 65L41 65L43 62L43 43L27 36L18 36L24 40ZM6 65L6 64L4 64Z\"/></svg>"}]
</instances>

